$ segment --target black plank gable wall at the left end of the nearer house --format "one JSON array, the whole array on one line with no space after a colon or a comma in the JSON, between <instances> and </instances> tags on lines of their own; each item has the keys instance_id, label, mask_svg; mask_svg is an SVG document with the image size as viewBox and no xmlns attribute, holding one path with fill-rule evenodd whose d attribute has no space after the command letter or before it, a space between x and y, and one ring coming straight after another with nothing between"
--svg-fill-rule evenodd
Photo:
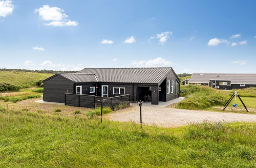
<instances>
[{"instance_id":1,"label":"black plank gable wall at the left end of the nearer house","mask_svg":"<svg viewBox=\"0 0 256 168\"><path fill-rule=\"evenodd\" d=\"M57 75L44 82L44 101L65 103L65 93L73 93L74 82Z\"/></svg>"}]
</instances>

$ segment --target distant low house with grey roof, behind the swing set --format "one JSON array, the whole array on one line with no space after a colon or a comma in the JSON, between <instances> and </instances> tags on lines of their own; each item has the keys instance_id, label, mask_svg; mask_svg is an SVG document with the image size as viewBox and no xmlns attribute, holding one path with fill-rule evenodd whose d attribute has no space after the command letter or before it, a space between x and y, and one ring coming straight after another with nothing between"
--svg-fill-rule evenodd
<instances>
[{"instance_id":1,"label":"distant low house with grey roof, behind the swing set","mask_svg":"<svg viewBox=\"0 0 256 168\"><path fill-rule=\"evenodd\" d=\"M256 87L256 74L193 73L189 84L206 85L222 90L243 89Z\"/></svg>"}]
</instances>

